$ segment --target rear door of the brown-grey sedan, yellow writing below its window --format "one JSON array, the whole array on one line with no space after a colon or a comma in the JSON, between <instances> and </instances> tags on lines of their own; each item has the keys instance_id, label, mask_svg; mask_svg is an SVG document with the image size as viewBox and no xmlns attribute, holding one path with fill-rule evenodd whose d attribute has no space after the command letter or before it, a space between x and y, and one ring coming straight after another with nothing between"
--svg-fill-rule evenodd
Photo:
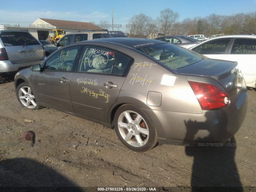
<instances>
[{"instance_id":1,"label":"rear door of the brown-grey sedan, yellow writing below its window","mask_svg":"<svg viewBox=\"0 0 256 192\"><path fill-rule=\"evenodd\" d=\"M110 48L85 46L70 78L74 113L107 122L133 59Z\"/></svg>"}]
</instances>

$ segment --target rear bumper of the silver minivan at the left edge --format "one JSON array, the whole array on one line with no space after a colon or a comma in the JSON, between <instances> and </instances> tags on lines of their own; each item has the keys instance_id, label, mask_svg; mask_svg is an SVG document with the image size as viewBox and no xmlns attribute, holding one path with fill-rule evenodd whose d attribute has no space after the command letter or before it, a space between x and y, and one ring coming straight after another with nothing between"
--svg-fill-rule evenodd
<instances>
[{"instance_id":1,"label":"rear bumper of the silver minivan at the left edge","mask_svg":"<svg viewBox=\"0 0 256 192\"><path fill-rule=\"evenodd\" d=\"M43 60L27 62L22 64L12 64L9 60L7 61L0 61L0 73L5 72L16 72L21 68L26 68L32 65L41 64Z\"/></svg>"}]
</instances>

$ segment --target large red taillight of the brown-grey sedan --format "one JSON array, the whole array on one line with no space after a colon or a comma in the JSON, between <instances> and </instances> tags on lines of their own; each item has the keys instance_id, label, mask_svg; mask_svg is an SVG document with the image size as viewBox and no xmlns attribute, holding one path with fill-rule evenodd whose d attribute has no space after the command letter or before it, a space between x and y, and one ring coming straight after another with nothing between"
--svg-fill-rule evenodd
<instances>
[{"instance_id":1,"label":"large red taillight of the brown-grey sedan","mask_svg":"<svg viewBox=\"0 0 256 192\"><path fill-rule=\"evenodd\" d=\"M215 110L226 106L229 98L219 88L200 82L188 81L202 110Z\"/></svg>"}]
</instances>

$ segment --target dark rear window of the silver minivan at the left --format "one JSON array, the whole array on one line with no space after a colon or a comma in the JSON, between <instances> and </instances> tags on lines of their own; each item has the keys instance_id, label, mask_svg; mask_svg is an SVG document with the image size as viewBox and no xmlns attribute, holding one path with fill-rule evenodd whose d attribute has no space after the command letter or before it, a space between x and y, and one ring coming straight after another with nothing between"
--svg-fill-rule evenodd
<instances>
[{"instance_id":1,"label":"dark rear window of the silver minivan at the left","mask_svg":"<svg viewBox=\"0 0 256 192\"><path fill-rule=\"evenodd\" d=\"M40 43L27 32L2 32L0 38L4 46L40 45Z\"/></svg>"}]
</instances>

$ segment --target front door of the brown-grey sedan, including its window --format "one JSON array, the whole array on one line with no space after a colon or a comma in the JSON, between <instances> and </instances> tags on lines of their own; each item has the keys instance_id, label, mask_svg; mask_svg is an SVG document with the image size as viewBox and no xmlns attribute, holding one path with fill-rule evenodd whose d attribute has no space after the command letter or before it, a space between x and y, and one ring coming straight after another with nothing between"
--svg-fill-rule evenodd
<instances>
[{"instance_id":1,"label":"front door of the brown-grey sedan, including its window","mask_svg":"<svg viewBox=\"0 0 256 192\"><path fill-rule=\"evenodd\" d=\"M40 72L35 72L34 89L38 102L43 106L73 112L69 82L81 47L70 46L59 50L44 62Z\"/></svg>"}]
</instances>

